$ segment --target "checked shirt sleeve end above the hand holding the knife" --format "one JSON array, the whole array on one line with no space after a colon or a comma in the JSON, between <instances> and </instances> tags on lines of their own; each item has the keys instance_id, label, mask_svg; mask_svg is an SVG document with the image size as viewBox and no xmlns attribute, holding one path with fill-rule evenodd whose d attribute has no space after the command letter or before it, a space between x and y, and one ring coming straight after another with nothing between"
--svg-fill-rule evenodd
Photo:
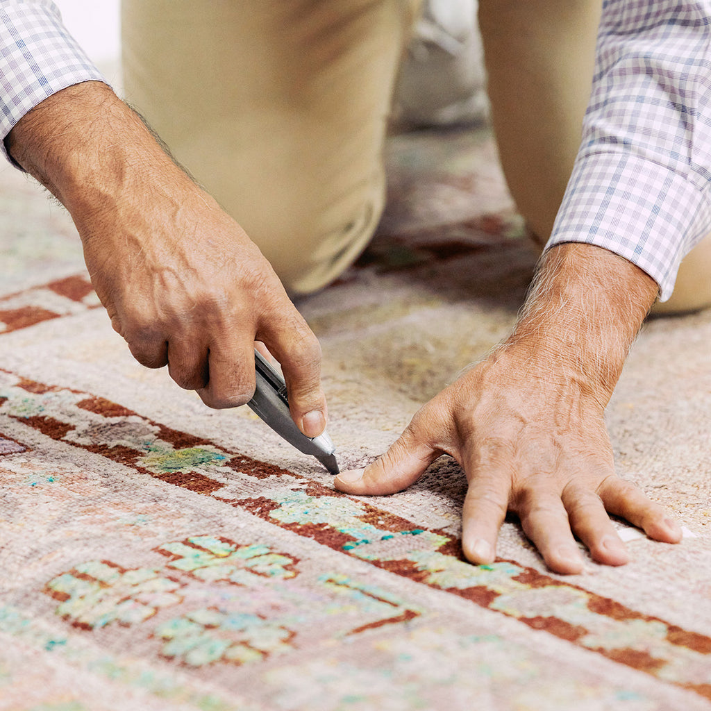
<instances>
[{"instance_id":1,"label":"checked shirt sleeve end above the hand holding the knife","mask_svg":"<svg viewBox=\"0 0 711 711\"><path fill-rule=\"evenodd\" d=\"M0 149L6 158L5 137L31 108L87 80L105 81L51 0L0 0Z\"/></svg>"}]
</instances>

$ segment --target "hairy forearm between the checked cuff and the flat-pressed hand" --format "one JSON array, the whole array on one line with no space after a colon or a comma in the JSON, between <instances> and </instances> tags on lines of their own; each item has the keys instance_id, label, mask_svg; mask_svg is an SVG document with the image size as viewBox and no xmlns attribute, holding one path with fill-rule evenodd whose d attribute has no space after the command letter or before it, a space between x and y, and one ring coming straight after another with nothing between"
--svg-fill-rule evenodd
<instances>
[{"instance_id":1,"label":"hairy forearm between the checked cuff and the flat-pressed hand","mask_svg":"<svg viewBox=\"0 0 711 711\"><path fill-rule=\"evenodd\" d=\"M503 350L529 348L550 377L574 379L604 405L657 294L651 277L613 252L558 245L542 257Z\"/></svg>"}]
</instances>

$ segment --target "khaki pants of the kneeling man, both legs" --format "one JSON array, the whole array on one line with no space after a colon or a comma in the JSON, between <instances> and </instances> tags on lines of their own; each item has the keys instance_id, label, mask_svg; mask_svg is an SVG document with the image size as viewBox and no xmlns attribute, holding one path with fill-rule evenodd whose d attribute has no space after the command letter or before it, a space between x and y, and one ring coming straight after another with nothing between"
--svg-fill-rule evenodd
<instances>
[{"instance_id":1,"label":"khaki pants of the kneeling man, both legs","mask_svg":"<svg viewBox=\"0 0 711 711\"><path fill-rule=\"evenodd\" d=\"M338 277L373 235L390 102L420 1L123 0L128 100L292 294ZM544 239L579 145L601 2L479 3L501 162ZM695 252L711 268L705 243ZM703 258L695 272L709 274ZM694 287L685 299L698 297Z\"/></svg>"}]
</instances>

